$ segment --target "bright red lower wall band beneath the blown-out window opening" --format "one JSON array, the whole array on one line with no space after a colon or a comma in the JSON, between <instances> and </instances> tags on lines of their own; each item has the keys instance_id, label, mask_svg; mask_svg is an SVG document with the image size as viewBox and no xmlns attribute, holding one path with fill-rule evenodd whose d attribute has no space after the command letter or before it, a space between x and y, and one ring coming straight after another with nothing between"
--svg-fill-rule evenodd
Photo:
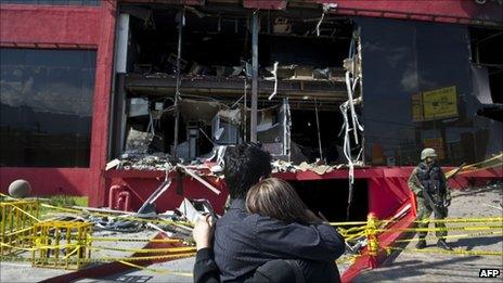
<instances>
[{"instance_id":1,"label":"bright red lower wall band beneath the blown-out window opening","mask_svg":"<svg viewBox=\"0 0 503 283\"><path fill-rule=\"evenodd\" d=\"M401 206L409 203L411 200L410 190L408 189L407 180L412 172L413 167L373 167L360 168L354 170L354 178L367 179L369 183L369 211L374 213L378 218L384 219L394 215ZM449 170L450 168L444 168ZM157 189L165 178L164 171L137 171L137 170L109 170L104 172L108 186L106 189L108 197L117 197L116 193L111 193L109 188L119 185L120 191L130 192L131 209L136 210L141 207L143 202ZM326 180L326 179L347 179L348 170L333 170L324 175L318 175L312 171L281 172L274 175L278 178L285 180ZM168 191L162 195L156 202L158 211L175 209L180 205L183 197L188 198L207 198L211 202L217 213L221 214L225 203L228 191L223 181L216 177L204 177L209 183L222 191L222 194L217 195L202 185L199 182L189 178L182 178L182 185L177 183L177 173L172 172L169 176L172 183ZM503 169L486 169L474 173L459 175L450 181L451 186L463 189L467 184L467 180L475 178L487 181L503 177ZM344 188L334 188L339 190ZM114 189L116 190L116 189ZM181 194L179 191L181 190ZM107 200L108 204L116 204L117 200Z\"/></svg>"}]
</instances>

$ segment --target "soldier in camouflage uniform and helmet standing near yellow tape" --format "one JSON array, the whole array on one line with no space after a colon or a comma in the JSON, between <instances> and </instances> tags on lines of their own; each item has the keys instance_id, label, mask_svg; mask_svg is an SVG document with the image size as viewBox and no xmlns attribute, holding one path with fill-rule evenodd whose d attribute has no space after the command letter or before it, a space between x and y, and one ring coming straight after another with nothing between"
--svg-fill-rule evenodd
<instances>
[{"instance_id":1,"label":"soldier in camouflage uniform and helmet standing near yellow tape","mask_svg":"<svg viewBox=\"0 0 503 283\"><path fill-rule=\"evenodd\" d=\"M448 215L448 206L451 205L451 192L447 186L446 176L436 163L437 154L434 149L425 149L421 153L421 163L409 177L409 189L414 192L417 200L417 228L428 228L429 216L435 211L435 219L443 219ZM430 201L428 200L428 196ZM437 229L446 229L442 222L436 222ZM416 248L426 247L428 232L420 232L420 241ZM447 230L436 231L437 246L443 249L452 249L446 243Z\"/></svg>"}]
</instances>

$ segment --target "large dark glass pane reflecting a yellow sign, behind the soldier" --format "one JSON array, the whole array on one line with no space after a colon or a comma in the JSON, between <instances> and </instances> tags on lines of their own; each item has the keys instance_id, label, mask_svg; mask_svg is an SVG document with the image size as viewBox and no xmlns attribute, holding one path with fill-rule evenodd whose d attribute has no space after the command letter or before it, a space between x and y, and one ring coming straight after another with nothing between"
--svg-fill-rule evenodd
<instances>
[{"instance_id":1,"label":"large dark glass pane reflecting a yellow sign, behind the soldier","mask_svg":"<svg viewBox=\"0 0 503 283\"><path fill-rule=\"evenodd\" d=\"M481 97L491 95L477 86L483 76L469 62L466 26L382 18L358 24L369 164L415 165L424 147L434 147L442 165L502 151L502 123L477 116Z\"/></svg>"}]
</instances>

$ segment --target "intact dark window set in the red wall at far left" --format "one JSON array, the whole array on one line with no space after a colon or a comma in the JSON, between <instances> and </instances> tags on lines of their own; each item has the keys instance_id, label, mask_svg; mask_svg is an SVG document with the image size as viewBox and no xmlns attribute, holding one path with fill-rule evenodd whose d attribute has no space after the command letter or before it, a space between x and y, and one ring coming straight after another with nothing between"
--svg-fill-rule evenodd
<instances>
[{"instance_id":1,"label":"intact dark window set in the red wall at far left","mask_svg":"<svg viewBox=\"0 0 503 283\"><path fill-rule=\"evenodd\" d=\"M89 167L95 51L0 49L0 165Z\"/></svg>"}]
</instances>

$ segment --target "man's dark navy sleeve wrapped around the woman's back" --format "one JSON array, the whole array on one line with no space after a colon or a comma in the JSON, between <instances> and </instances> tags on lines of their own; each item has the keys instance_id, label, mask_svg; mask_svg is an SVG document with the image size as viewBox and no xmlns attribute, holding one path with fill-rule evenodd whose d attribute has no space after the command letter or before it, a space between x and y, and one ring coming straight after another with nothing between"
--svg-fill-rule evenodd
<instances>
[{"instance_id":1,"label":"man's dark navy sleeve wrapped around the woman's back","mask_svg":"<svg viewBox=\"0 0 503 283\"><path fill-rule=\"evenodd\" d=\"M260 252L276 258L335 260L346 248L344 237L328 224L284 223L259 217L255 232Z\"/></svg>"}]
</instances>

